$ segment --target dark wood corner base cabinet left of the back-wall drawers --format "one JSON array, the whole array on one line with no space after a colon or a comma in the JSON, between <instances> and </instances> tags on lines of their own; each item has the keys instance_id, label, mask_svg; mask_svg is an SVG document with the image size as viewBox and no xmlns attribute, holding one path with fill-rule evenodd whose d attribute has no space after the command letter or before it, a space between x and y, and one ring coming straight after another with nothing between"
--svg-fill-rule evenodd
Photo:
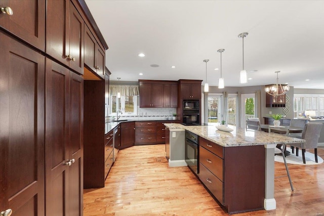
<instances>
[{"instance_id":1,"label":"dark wood corner base cabinet left of the back-wall drawers","mask_svg":"<svg viewBox=\"0 0 324 216\"><path fill-rule=\"evenodd\" d=\"M134 146L135 143L135 121L121 122L120 149Z\"/></svg>"}]
</instances>

